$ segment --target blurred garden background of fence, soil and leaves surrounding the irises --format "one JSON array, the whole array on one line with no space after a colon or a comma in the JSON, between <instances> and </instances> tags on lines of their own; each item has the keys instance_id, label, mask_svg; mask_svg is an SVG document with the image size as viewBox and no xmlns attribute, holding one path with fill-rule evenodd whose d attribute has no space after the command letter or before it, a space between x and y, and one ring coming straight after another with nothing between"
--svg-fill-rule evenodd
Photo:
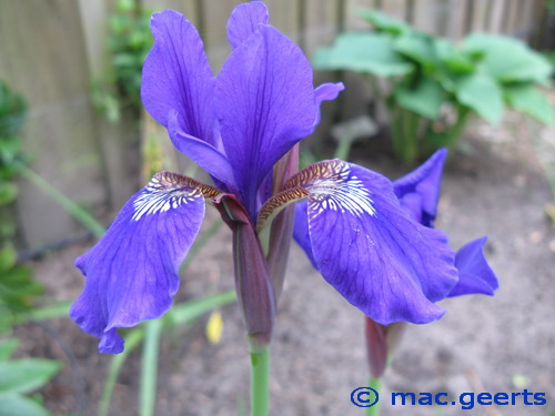
<instances>
[{"instance_id":1,"label":"blurred garden background of fence, soil and leaves surrounding the irises","mask_svg":"<svg viewBox=\"0 0 555 416\"><path fill-rule=\"evenodd\" d=\"M150 14L184 13L218 73L238 3L0 0L0 416L244 412L248 346L229 292L231 236L214 212L173 312L124 331L125 355L99 355L65 317L83 285L73 258L152 173L206 179L142 108ZM265 3L271 24L312 60L315 84L346 85L324 104L302 163L340 156L395 179L448 146L437 226L455 247L490 235L498 294L450 300L441 322L411 327L385 388L529 388L551 394L548 404L475 414L553 415L555 2ZM367 377L362 316L296 246L274 344L274 414L357 414L349 395Z\"/></svg>"}]
</instances>

